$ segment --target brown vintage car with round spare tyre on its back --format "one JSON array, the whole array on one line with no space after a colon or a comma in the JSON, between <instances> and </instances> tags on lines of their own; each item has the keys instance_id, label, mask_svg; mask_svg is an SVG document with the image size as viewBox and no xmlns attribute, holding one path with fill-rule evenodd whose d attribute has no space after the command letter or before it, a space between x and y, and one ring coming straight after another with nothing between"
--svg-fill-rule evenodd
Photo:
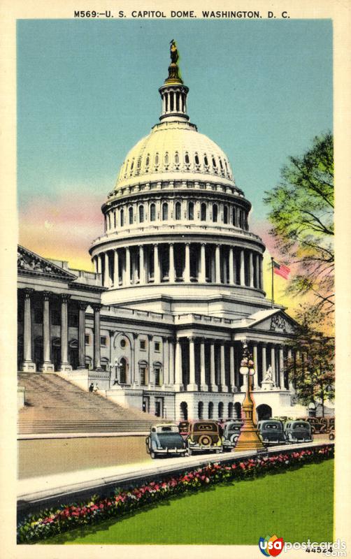
<instances>
[{"instance_id":1,"label":"brown vintage car with round spare tyre on its back","mask_svg":"<svg viewBox=\"0 0 351 559\"><path fill-rule=\"evenodd\" d=\"M194 452L222 452L222 437L217 421L194 421L187 436L189 456Z\"/></svg>"}]
</instances>

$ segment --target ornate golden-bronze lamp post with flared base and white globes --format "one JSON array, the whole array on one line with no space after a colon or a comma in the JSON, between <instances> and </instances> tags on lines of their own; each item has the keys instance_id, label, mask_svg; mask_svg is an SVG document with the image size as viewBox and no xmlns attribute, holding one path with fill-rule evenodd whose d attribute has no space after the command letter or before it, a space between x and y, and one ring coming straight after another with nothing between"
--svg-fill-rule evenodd
<instances>
[{"instance_id":1,"label":"ornate golden-bronze lamp post with flared base and white globes","mask_svg":"<svg viewBox=\"0 0 351 559\"><path fill-rule=\"evenodd\" d=\"M244 424L241 428L234 452L240 452L243 450L263 450L264 444L259 438L257 427L253 421L255 405L251 398L250 377L255 375L255 369L247 344L244 344L243 360L241 361L240 372L241 375L247 375L248 381L246 384L245 399L243 401Z\"/></svg>"}]
</instances>

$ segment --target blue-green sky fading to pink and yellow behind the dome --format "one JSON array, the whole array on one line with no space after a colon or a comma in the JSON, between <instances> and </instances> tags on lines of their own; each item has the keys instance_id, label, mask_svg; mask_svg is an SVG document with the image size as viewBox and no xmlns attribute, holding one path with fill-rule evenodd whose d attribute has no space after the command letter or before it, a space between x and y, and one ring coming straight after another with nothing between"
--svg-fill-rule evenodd
<instances>
[{"instance_id":1,"label":"blue-green sky fading to pink and yellow behind the dome","mask_svg":"<svg viewBox=\"0 0 351 559\"><path fill-rule=\"evenodd\" d=\"M92 269L101 205L127 152L158 122L172 38L190 122L229 157L252 203L250 228L266 261L276 256L262 198L289 156L332 129L331 20L19 20L21 245ZM267 282L266 266L268 291Z\"/></svg>"}]
</instances>

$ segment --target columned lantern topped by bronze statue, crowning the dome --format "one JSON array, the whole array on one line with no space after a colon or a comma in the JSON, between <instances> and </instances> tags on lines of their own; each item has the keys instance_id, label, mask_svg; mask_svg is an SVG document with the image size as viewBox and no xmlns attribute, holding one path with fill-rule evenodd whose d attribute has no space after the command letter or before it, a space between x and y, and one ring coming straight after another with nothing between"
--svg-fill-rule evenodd
<instances>
[{"instance_id":1,"label":"columned lantern topped by bronze statue, crowning the dome","mask_svg":"<svg viewBox=\"0 0 351 559\"><path fill-rule=\"evenodd\" d=\"M161 122L187 121L187 94L189 88L183 84L179 75L178 49L174 39L171 41L170 55L171 64L169 65L169 77L164 80L164 85L159 88L162 99L162 113L159 119Z\"/></svg>"}]
</instances>

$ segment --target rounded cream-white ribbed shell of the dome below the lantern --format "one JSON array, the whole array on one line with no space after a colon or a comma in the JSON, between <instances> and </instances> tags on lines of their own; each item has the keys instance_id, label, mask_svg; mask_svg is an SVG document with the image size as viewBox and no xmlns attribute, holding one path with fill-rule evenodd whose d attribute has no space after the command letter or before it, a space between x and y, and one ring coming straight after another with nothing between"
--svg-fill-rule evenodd
<instances>
[{"instance_id":1,"label":"rounded cream-white ribbed shell of the dome below the lantern","mask_svg":"<svg viewBox=\"0 0 351 559\"><path fill-rule=\"evenodd\" d=\"M115 190L152 180L202 180L234 184L226 154L188 122L162 122L129 151Z\"/></svg>"}]
</instances>

